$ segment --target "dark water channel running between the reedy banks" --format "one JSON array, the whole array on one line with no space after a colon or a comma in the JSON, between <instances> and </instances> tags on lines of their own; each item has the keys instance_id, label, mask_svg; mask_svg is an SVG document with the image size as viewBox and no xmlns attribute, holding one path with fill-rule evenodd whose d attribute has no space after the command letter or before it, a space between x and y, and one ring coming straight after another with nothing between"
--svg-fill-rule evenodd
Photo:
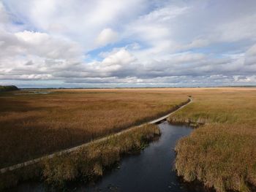
<instances>
[{"instance_id":1,"label":"dark water channel running between the reedy banks","mask_svg":"<svg viewBox=\"0 0 256 192\"><path fill-rule=\"evenodd\" d=\"M192 128L160 123L162 136L152 142L140 155L130 155L118 168L104 175L95 185L78 184L67 191L208 191L201 185L183 183L173 171L174 147ZM46 191L39 183L23 183L15 191Z\"/></svg>"}]
</instances>

